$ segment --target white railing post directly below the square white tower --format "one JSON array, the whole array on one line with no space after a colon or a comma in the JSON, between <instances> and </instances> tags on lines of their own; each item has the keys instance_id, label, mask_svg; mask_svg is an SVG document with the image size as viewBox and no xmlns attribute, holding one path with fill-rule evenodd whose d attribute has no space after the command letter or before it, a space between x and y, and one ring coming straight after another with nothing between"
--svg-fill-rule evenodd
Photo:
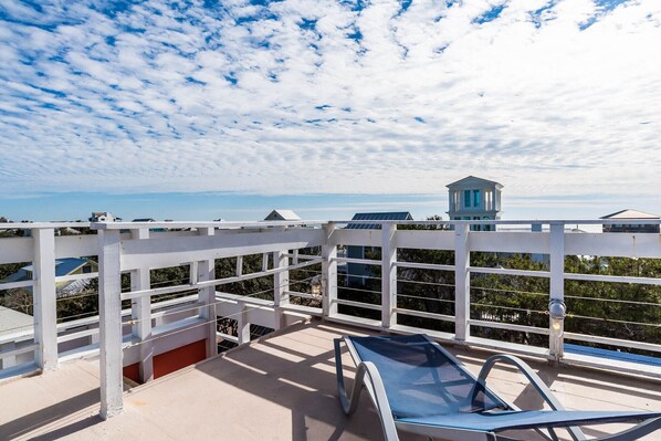
<instances>
[{"instance_id":1,"label":"white railing post directly below the square white tower","mask_svg":"<svg viewBox=\"0 0 661 441\"><path fill-rule=\"evenodd\" d=\"M469 223L454 227L454 338L465 340L471 335L471 252Z\"/></svg>"}]
</instances>

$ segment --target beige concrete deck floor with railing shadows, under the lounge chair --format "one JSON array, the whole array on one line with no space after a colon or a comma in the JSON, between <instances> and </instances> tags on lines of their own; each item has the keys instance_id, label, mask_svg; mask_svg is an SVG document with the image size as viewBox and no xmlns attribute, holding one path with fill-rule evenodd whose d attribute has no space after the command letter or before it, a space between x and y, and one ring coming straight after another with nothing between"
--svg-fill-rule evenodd
<instances>
[{"instance_id":1,"label":"beige concrete deck floor with railing shadows, under the lounge chair","mask_svg":"<svg viewBox=\"0 0 661 441\"><path fill-rule=\"evenodd\" d=\"M318 321L294 325L148 385L127 386L124 412L107 421L98 418L97 361L63 364L54 372L0 384L0 440L380 440L367 395L350 418L337 401L333 338L366 333ZM490 355L449 349L475 374ZM344 361L352 375L346 354ZM661 411L659 382L531 365L568 409ZM514 370L495 369L490 387L521 408L543 407ZM586 434L621 428L599 426ZM661 433L644 440L659 441Z\"/></svg>"}]
</instances>

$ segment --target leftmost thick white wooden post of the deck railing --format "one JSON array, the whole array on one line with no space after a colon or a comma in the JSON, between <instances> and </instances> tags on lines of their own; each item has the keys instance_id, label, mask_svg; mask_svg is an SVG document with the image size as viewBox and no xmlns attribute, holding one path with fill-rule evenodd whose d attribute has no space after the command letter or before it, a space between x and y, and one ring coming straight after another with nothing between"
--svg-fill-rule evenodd
<instances>
[{"instance_id":1,"label":"leftmost thick white wooden post of the deck railing","mask_svg":"<svg viewBox=\"0 0 661 441\"><path fill-rule=\"evenodd\" d=\"M33 273L34 361L45 372L57 368L57 309L55 300L55 230L35 229Z\"/></svg>"}]
</instances>

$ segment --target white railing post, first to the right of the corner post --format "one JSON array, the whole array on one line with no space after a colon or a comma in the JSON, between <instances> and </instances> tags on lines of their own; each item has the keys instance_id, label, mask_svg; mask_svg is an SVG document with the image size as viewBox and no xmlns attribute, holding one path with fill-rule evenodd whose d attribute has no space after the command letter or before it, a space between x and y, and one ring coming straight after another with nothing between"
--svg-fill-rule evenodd
<instances>
[{"instance_id":1,"label":"white railing post, first to the right of the corner post","mask_svg":"<svg viewBox=\"0 0 661 441\"><path fill-rule=\"evenodd\" d=\"M397 248L395 234L397 224L381 224L381 326L389 328L397 324Z\"/></svg>"}]
</instances>

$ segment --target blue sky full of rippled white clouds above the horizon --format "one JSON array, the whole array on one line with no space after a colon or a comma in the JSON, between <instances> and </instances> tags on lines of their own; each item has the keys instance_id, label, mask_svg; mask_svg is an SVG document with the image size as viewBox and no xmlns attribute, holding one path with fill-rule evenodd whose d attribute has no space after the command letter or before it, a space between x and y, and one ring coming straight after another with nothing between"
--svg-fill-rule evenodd
<instances>
[{"instance_id":1,"label":"blue sky full of rippled white clouds above the horizon","mask_svg":"<svg viewBox=\"0 0 661 441\"><path fill-rule=\"evenodd\" d=\"M0 216L661 213L659 0L0 0Z\"/></svg>"}]
</instances>

